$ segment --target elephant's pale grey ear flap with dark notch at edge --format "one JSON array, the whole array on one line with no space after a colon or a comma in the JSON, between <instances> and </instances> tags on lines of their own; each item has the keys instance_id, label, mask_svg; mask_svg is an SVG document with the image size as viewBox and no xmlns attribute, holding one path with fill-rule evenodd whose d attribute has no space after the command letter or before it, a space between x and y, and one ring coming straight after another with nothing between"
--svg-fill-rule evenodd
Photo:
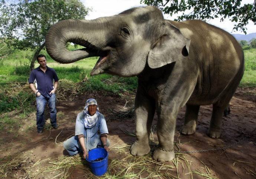
<instances>
[{"instance_id":1,"label":"elephant's pale grey ear flap with dark notch at edge","mask_svg":"<svg viewBox=\"0 0 256 179\"><path fill-rule=\"evenodd\" d=\"M161 28L162 36L155 42L148 54L148 66L152 69L176 62L188 56L190 40L170 22L165 21Z\"/></svg>"}]
</instances>

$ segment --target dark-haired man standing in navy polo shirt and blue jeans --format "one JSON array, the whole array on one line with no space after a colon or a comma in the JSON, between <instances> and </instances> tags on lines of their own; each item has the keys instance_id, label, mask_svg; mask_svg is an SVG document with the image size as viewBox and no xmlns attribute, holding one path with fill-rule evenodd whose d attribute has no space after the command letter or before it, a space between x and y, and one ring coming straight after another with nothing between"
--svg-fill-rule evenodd
<instances>
[{"instance_id":1,"label":"dark-haired man standing in navy polo shirt and blue jeans","mask_svg":"<svg viewBox=\"0 0 256 179\"><path fill-rule=\"evenodd\" d=\"M36 125L37 132L43 132L45 125L45 106L50 109L51 125L54 129L58 128L56 123L55 91L58 87L58 76L54 69L46 66L46 57L43 54L37 56L39 67L32 70L29 77L29 87L36 95ZM53 83L54 79L54 83ZM36 80L36 87L33 84Z\"/></svg>"}]
</instances>

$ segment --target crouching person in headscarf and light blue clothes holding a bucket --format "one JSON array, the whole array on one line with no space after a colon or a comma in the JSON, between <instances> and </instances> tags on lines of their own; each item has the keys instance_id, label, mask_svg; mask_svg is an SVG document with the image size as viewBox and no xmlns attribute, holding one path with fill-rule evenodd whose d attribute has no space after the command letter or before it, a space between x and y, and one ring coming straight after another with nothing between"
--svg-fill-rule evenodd
<instances>
[{"instance_id":1,"label":"crouching person in headscarf and light blue clothes holding a bucket","mask_svg":"<svg viewBox=\"0 0 256 179\"><path fill-rule=\"evenodd\" d=\"M106 151L109 151L110 142L107 139L106 120L98 110L96 100L88 99L83 112L76 117L75 136L63 143L70 156L83 152L83 158L86 158L88 151L96 147L104 147Z\"/></svg>"}]
</instances>

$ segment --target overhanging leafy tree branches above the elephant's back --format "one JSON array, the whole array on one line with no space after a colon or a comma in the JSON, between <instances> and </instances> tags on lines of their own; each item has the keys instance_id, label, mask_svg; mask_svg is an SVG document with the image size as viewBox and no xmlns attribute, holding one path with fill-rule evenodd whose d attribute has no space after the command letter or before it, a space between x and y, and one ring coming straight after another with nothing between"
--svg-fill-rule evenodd
<instances>
[{"instance_id":1,"label":"overhanging leafy tree branches above the elephant's back","mask_svg":"<svg viewBox=\"0 0 256 179\"><path fill-rule=\"evenodd\" d=\"M183 12L174 20L188 19L214 19L220 17L223 21L226 17L236 22L233 30L242 30L246 34L249 20L256 24L256 0L251 4L241 6L242 0L141 0L141 3L160 8L165 14L177 14Z\"/></svg>"}]
</instances>

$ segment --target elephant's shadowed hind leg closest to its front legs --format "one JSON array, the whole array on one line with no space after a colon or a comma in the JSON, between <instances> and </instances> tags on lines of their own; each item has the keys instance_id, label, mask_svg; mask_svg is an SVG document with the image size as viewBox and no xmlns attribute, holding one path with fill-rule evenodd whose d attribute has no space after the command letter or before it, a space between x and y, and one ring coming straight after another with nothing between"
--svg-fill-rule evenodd
<instances>
[{"instance_id":1,"label":"elephant's shadowed hind leg closest to its front legs","mask_svg":"<svg viewBox=\"0 0 256 179\"><path fill-rule=\"evenodd\" d=\"M198 111L200 106L198 105L186 105L186 114L184 120L184 126L181 133L184 135L191 135L196 132Z\"/></svg>"}]
</instances>

